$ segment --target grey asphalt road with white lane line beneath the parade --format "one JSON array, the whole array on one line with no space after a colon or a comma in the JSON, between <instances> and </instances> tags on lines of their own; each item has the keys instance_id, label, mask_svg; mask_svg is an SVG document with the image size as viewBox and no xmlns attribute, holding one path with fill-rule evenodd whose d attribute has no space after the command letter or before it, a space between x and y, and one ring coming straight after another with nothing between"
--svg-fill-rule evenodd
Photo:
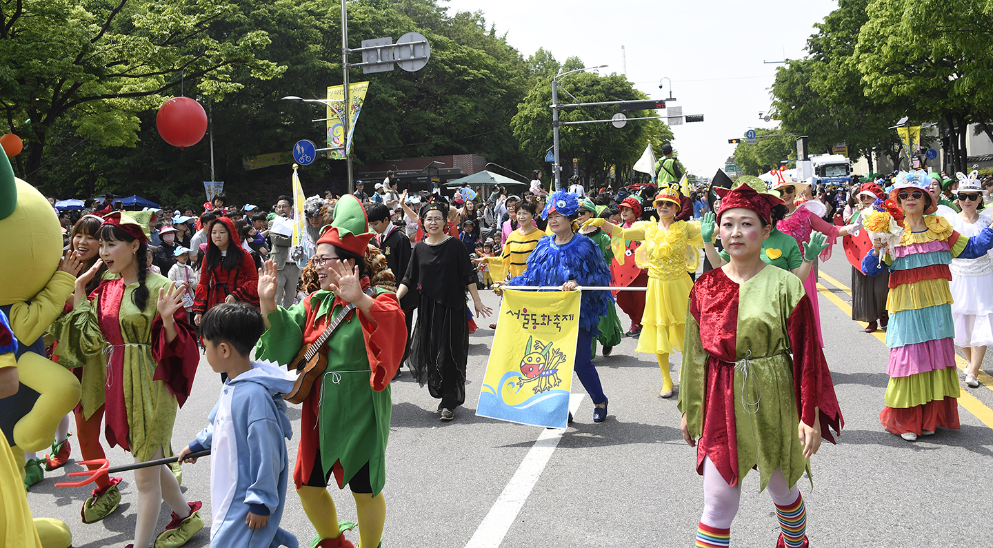
<instances>
[{"instance_id":1,"label":"grey asphalt road with white lane line beneath the parade","mask_svg":"<svg viewBox=\"0 0 993 548\"><path fill-rule=\"evenodd\" d=\"M818 296L824 352L845 428L838 445L825 443L813 458L814 487L805 478L799 482L811 544L993 545L993 532L983 517L993 511L993 477L986 474L993 462L993 378L982 376L984 385L976 389L962 383L961 430L939 430L915 443L889 434L879 423L888 349L864 333L864 325L850 320L850 297L843 286L851 283L851 267L840 243L820 268L825 275ZM497 308L492 294L484 299ZM654 356L636 354L632 339L617 346L613 355L598 356L595 363L610 398L610 416L605 423L593 423L592 403L574 378L576 422L559 436L558 431L475 416L493 341L493 331L485 327L489 321L480 324L482 329L470 338L467 401L456 420L440 422L437 400L409 373L392 384L383 546L692 546L702 481L694 471L694 450L679 433L675 398L658 397L661 375ZM679 354L672 355L673 371L679 359ZM993 371L993 366L987 363L984 370ZM204 427L219 387L219 378L202 359L194 393L176 420L175 447ZM290 418L298 429L299 407L291 406ZM291 461L296 447L294 440ZM78 458L75 450L72 457ZM111 464L130 462L118 449L108 457ZM66 470L80 467L73 461ZM186 496L204 501L209 521L208 460L186 465L184 471ZM77 547L131 541L136 502L132 476L123 476L120 508L91 525L78 517L91 487L57 488L54 483L60 477L61 473L48 474L32 488L28 500L36 516L67 521ZM339 516L354 520L355 503L348 489L333 486L332 495ZM314 530L292 488L286 504L283 527L295 533L302 546L309 546ZM160 530L168 515L164 506ZM772 547L778 535L772 500L759 492L758 478L750 474L743 481L733 544ZM208 537L205 530L188 546L208 546ZM350 539L357 542L357 534Z\"/></svg>"}]
</instances>

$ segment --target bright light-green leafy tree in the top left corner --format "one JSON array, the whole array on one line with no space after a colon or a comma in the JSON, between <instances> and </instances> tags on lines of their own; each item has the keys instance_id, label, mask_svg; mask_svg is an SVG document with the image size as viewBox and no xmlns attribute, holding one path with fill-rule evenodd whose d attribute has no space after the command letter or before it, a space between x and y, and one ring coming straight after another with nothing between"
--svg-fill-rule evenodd
<instances>
[{"instance_id":1,"label":"bright light-green leafy tree in the top left corner","mask_svg":"<svg viewBox=\"0 0 993 548\"><path fill-rule=\"evenodd\" d=\"M235 72L278 75L282 67L257 56L265 32L220 32L243 17L229 0L0 1L0 107L29 144L18 170L38 177L60 123L101 146L133 147L137 113L184 82L221 98L243 86Z\"/></svg>"}]
</instances>

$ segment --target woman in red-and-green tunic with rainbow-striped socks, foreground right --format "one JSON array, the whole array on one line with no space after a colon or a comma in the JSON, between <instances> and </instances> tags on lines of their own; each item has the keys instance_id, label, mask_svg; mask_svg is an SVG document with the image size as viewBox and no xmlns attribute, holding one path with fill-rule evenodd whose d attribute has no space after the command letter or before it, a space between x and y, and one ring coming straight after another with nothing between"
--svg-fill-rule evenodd
<instances>
[{"instance_id":1,"label":"woman in red-and-green tunic with rainbow-striped socks, foreground right","mask_svg":"<svg viewBox=\"0 0 993 548\"><path fill-rule=\"evenodd\" d=\"M807 546L796 480L810 475L828 427L844 421L800 280L763 262L779 198L748 185L722 195L717 213L730 262L708 271L690 292L678 408L696 447L704 509L697 546L728 546L741 481L758 469L780 521L777 546ZM792 357L790 357L790 354Z\"/></svg>"}]
</instances>

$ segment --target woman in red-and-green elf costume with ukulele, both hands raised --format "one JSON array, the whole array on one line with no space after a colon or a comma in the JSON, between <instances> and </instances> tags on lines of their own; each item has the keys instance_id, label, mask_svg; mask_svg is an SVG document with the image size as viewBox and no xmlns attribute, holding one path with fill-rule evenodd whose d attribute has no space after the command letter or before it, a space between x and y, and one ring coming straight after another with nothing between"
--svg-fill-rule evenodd
<instances>
[{"instance_id":1,"label":"woman in red-and-green elf costume with ukulele, both hands raised","mask_svg":"<svg viewBox=\"0 0 993 548\"><path fill-rule=\"evenodd\" d=\"M327 489L332 474L339 488L348 483L352 489L360 546L380 544L386 519L381 491L392 405L389 381L403 356L407 328L396 295L370 287L364 256L372 236L362 206L355 197L345 196L335 207L335 220L323 229L312 259L318 267L319 291L287 310L276 306L275 263L266 261L258 279L266 326L256 348L258 359L291 363L347 305L357 309L321 348L328 366L303 403L293 480L317 530L312 547L354 548L344 535L354 524L339 523Z\"/></svg>"}]
</instances>

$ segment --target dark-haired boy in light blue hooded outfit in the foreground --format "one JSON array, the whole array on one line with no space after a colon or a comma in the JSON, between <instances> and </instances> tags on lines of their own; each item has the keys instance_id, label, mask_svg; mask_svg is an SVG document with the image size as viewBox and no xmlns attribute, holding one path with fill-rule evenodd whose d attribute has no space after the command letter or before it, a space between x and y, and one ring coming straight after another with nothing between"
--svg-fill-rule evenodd
<instances>
[{"instance_id":1,"label":"dark-haired boy in light blue hooded outfit in the foreground","mask_svg":"<svg viewBox=\"0 0 993 548\"><path fill-rule=\"evenodd\" d=\"M212 450L211 546L297 548L279 527L286 501L288 459L283 439L292 437L282 394L293 388L285 369L249 358L265 331L258 309L246 303L220 304L201 322L207 360L227 373L210 426L179 454Z\"/></svg>"}]
</instances>

